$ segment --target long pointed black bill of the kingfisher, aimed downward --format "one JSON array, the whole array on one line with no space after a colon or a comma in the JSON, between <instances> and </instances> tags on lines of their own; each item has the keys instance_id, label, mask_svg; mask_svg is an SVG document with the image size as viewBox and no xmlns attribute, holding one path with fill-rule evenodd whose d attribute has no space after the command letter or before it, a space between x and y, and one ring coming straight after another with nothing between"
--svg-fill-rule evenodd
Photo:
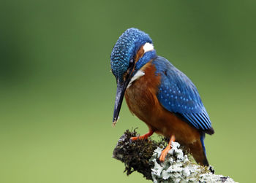
<instances>
[{"instance_id":1,"label":"long pointed black bill of the kingfisher, aimed downward","mask_svg":"<svg viewBox=\"0 0 256 183\"><path fill-rule=\"evenodd\" d=\"M118 115L121 109L121 104L123 103L124 93L127 89L129 81L127 82L117 82L117 89L116 89L116 101L115 101L115 108L113 114L113 125L116 125L118 120Z\"/></svg>"}]
</instances>

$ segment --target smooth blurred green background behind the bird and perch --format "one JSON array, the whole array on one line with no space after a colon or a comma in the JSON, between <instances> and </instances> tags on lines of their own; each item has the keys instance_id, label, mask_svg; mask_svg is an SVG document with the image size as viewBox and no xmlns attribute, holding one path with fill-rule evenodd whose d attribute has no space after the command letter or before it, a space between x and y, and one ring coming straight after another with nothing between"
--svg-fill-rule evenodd
<instances>
[{"instance_id":1,"label":"smooth blurred green background behind the bird and perch","mask_svg":"<svg viewBox=\"0 0 256 183\"><path fill-rule=\"evenodd\" d=\"M130 27L197 85L216 133L217 174L255 177L255 1L3 1L0 182L148 182L112 158L147 128L124 104L112 128L110 52ZM157 136L157 135L154 135Z\"/></svg>"}]
</instances>

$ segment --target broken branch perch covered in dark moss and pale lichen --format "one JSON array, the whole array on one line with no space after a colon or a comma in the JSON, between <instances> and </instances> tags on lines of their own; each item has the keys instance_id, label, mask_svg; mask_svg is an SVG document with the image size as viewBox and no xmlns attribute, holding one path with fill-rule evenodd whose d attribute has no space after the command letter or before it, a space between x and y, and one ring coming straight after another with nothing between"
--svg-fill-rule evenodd
<instances>
[{"instance_id":1,"label":"broken branch perch covered in dark moss and pale lichen","mask_svg":"<svg viewBox=\"0 0 256 183\"><path fill-rule=\"evenodd\" d=\"M188 151L177 142L173 143L165 162L160 163L159 156L167 139L130 141L132 136L138 136L136 131L125 131L113 151L113 157L124 163L127 175L138 171L154 183L234 182L228 176L213 174L211 168L192 163Z\"/></svg>"}]
</instances>

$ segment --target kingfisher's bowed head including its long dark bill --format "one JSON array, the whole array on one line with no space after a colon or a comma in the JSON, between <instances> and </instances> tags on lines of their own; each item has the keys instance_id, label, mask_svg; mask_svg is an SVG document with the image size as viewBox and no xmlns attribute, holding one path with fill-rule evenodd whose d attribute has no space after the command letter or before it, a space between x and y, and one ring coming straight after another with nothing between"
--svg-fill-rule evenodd
<instances>
[{"instance_id":1,"label":"kingfisher's bowed head including its long dark bill","mask_svg":"<svg viewBox=\"0 0 256 183\"><path fill-rule=\"evenodd\" d=\"M136 72L155 56L152 39L137 28L127 29L117 40L110 56L111 71L116 77L117 84L114 125L118 120L124 92L129 82Z\"/></svg>"}]
</instances>

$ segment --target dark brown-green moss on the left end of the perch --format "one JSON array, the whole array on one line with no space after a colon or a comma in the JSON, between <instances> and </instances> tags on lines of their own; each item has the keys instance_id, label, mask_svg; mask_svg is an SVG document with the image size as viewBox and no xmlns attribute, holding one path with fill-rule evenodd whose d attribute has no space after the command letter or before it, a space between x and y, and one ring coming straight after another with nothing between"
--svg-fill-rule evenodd
<instances>
[{"instance_id":1,"label":"dark brown-green moss on the left end of the perch","mask_svg":"<svg viewBox=\"0 0 256 183\"><path fill-rule=\"evenodd\" d=\"M138 171L146 179L152 180L151 168L154 167L154 163L149 160L157 147L166 147L169 139L160 138L159 141L154 141L148 138L146 140L131 141L130 138L134 136L139 136L136 129L125 131L116 144L113 157L124 163L124 172L127 172L127 175L132 174L133 171Z\"/></svg>"}]
</instances>

